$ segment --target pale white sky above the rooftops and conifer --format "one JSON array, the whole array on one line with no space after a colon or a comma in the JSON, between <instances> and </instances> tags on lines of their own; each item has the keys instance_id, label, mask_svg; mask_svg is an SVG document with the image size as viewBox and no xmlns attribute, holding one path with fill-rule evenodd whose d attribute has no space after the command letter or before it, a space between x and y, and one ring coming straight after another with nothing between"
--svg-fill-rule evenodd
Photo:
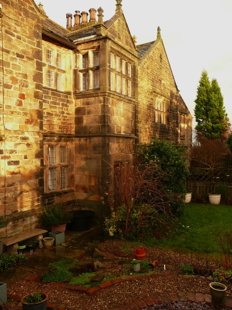
<instances>
[{"instance_id":1,"label":"pale white sky above the rooftops and conifer","mask_svg":"<svg viewBox=\"0 0 232 310\"><path fill-rule=\"evenodd\" d=\"M115 0L41 2L49 18L65 28L66 13L74 15L76 10L88 12L101 7L105 21L116 9ZM232 123L232 0L122 0L122 11L137 44L156 40L157 27L161 28L176 84L192 116L198 82L205 69L210 81L217 79Z\"/></svg>"}]
</instances>

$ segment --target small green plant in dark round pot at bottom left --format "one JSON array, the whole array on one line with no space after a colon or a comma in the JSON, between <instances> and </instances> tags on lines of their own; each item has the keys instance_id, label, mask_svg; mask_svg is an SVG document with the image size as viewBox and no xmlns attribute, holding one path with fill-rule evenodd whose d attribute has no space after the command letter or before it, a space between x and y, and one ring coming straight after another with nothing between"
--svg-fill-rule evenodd
<instances>
[{"instance_id":1,"label":"small green plant in dark round pot at bottom left","mask_svg":"<svg viewBox=\"0 0 232 310\"><path fill-rule=\"evenodd\" d=\"M23 310L45 310L47 308L48 295L44 293L31 293L22 298Z\"/></svg>"}]
</instances>

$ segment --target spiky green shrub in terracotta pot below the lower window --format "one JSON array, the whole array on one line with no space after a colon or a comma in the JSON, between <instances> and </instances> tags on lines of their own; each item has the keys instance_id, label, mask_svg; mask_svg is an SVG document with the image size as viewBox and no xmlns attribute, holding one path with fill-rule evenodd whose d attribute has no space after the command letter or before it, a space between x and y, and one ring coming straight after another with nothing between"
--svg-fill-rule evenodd
<instances>
[{"instance_id":1,"label":"spiky green shrub in terracotta pot below the lower window","mask_svg":"<svg viewBox=\"0 0 232 310\"><path fill-rule=\"evenodd\" d=\"M61 203L53 206L44 206L42 211L43 213L39 216L39 219L45 227L51 227L52 231L59 230L64 232L66 224L71 222L73 218L73 212L67 211L66 207Z\"/></svg>"}]
</instances>

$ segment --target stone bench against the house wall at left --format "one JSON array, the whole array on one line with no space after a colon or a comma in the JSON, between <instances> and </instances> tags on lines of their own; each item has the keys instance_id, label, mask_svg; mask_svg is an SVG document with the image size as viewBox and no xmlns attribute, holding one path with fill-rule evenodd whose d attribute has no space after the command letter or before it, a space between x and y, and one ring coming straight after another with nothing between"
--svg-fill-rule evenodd
<instances>
[{"instance_id":1,"label":"stone bench against the house wall at left","mask_svg":"<svg viewBox=\"0 0 232 310\"><path fill-rule=\"evenodd\" d=\"M38 240L40 249L43 247L43 234L47 233L44 229L33 229L31 231L21 232L17 235L6 237L1 239L4 246L6 246L7 253L17 253L19 248L19 242L33 238L33 240Z\"/></svg>"}]
</instances>

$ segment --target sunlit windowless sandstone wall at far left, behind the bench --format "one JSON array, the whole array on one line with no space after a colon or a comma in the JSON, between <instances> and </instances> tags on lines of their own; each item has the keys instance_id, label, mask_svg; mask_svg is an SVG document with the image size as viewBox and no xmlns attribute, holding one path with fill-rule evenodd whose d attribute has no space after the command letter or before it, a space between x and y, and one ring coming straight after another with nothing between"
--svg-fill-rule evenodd
<instances>
[{"instance_id":1,"label":"sunlit windowless sandstone wall at far left, behind the bench","mask_svg":"<svg viewBox=\"0 0 232 310\"><path fill-rule=\"evenodd\" d=\"M34 215L29 220L19 213L36 214L43 199L43 18L33 1L1 3L0 215L7 215L7 229L18 232L36 226ZM0 237L5 235L3 228Z\"/></svg>"}]
</instances>

